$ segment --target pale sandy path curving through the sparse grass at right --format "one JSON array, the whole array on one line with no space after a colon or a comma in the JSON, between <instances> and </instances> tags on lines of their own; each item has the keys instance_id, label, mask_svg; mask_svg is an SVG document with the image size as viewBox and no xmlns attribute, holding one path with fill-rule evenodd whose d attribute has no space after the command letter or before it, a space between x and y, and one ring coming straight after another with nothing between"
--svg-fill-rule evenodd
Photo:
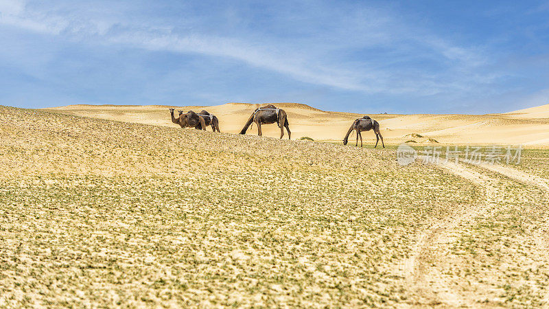
<instances>
[{"instance_id":1,"label":"pale sandy path curving through the sparse grass at right","mask_svg":"<svg viewBox=\"0 0 549 309\"><path fill-rule=\"evenodd\" d=\"M432 264L433 260L443 261L445 253L440 251L439 244L445 244L449 247L452 243L452 231L456 230L461 223L470 222L481 214L487 213L490 209L498 207L498 202L495 201L497 193L496 184L498 179L476 172L473 168L467 165L456 163L440 163L439 166L461 176L476 185L482 187L485 191L484 199L478 204L472 204L467 209L462 209L460 213L452 218L434 222L420 236L420 240L412 249L410 259L406 262L405 271L406 278L410 289L414 292L412 304L414 305L441 305L452 307L474 307L479 306L477 299L478 295L467 295L458 293L452 290L452 282L449 282L441 274L440 269ZM535 185L544 190L545 198L549 199L549 181L539 176L528 174L513 168L502 165L482 164L475 165L485 170L495 172L506 178L512 179L519 183ZM549 263L549 224L548 220L533 233L536 243L537 255L544 258ZM544 295L544 302L549 303L549 293Z\"/></svg>"}]
</instances>

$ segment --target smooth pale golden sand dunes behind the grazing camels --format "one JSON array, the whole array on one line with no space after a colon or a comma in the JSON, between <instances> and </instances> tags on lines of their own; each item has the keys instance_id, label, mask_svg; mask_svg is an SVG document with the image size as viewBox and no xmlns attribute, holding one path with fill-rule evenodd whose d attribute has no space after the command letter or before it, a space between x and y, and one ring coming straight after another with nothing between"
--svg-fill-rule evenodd
<instances>
[{"instance_id":1,"label":"smooth pale golden sand dunes behind the grazing camels","mask_svg":"<svg viewBox=\"0 0 549 309\"><path fill-rule=\"evenodd\" d=\"M137 106L137 105L69 105L46 108L56 113L110 119L121 122L177 127L170 121L168 108L201 111L205 109L220 119L222 132L238 133L254 109L264 104L227 103L217 106ZM298 103L274 103L288 113L292 139L311 137L322 141L340 141L351 126L353 119L362 114L321 111L318 108ZM444 144L500 144L544 147L549 146L549 104L526 108L520 111L486 115L373 115L388 144L410 140L406 135L419 134L412 138L419 143L435 139ZM263 126L264 136L278 137L276 125ZM253 126L248 134L257 134ZM366 144L375 141L373 133L363 135ZM287 138L287 136L286 136ZM351 139L353 141L353 139Z\"/></svg>"}]
</instances>

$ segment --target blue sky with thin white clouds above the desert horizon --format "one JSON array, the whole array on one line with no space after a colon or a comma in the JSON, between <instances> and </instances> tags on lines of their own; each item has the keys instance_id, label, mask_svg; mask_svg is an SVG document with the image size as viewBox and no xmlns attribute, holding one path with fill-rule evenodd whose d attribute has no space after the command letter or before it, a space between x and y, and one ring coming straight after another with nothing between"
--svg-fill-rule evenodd
<instances>
[{"instance_id":1,"label":"blue sky with thin white clouds above the desert horizon","mask_svg":"<svg viewBox=\"0 0 549 309\"><path fill-rule=\"evenodd\" d=\"M549 104L549 1L0 0L0 104Z\"/></svg>"}]
</instances>

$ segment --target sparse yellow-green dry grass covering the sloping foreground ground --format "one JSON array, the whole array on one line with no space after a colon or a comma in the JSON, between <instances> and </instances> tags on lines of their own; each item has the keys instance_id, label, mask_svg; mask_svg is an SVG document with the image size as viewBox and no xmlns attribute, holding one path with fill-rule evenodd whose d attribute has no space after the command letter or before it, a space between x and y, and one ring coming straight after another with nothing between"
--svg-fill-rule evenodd
<instances>
[{"instance_id":1,"label":"sparse yellow-green dry grass covering the sloping foreground ground","mask_svg":"<svg viewBox=\"0 0 549 309\"><path fill-rule=\"evenodd\" d=\"M394 150L7 107L0 160L0 306L413 305L403 265L421 233L484 197L433 166L400 167ZM457 284L500 242L498 261L534 265L511 226L529 205L456 236ZM478 301L541 304L539 288L506 301L533 279L502 276Z\"/></svg>"}]
</instances>

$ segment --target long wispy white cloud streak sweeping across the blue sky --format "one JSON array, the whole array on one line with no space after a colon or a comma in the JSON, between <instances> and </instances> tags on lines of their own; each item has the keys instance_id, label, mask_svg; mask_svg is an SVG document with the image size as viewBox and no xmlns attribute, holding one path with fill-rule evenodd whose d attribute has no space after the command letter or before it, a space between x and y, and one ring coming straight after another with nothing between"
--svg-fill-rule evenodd
<instances>
[{"instance_id":1,"label":"long wispy white cloud streak sweeping across the blue sky","mask_svg":"<svg viewBox=\"0 0 549 309\"><path fill-rule=\"evenodd\" d=\"M233 58L254 67L285 74L295 80L364 93L432 95L444 91L467 91L471 87L469 73L484 62L475 49L452 45L430 34L410 36L406 25L399 24L383 12L375 12L377 19L375 14L365 16L364 12L336 16L340 20L330 23L334 25L330 34L336 38L332 41L318 34L313 38L285 40L261 38L260 34L256 37L239 37L238 34L220 36L201 33L200 29L180 34L174 32L170 25L155 25L148 21L136 23L126 19L109 20L101 18L102 14L87 16L85 11L40 8L25 5L23 1L1 0L0 3L0 24L3 25L77 41L93 39L95 43L104 45L123 44L155 51ZM370 19L367 22L366 17ZM338 52L345 52L345 49L371 48L376 45L386 49L404 48L403 54L416 52L413 49L406 51L406 44L402 45L404 39L413 41L419 49L430 49L435 55L456 62L449 68L456 76L419 70L406 71L397 65L383 67L383 64L369 58L360 60L360 65L344 64L338 56ZM409 61L406 56L399 60ZM410 76L414 73L417 76Z\"/></svg>"}]
</instances>

